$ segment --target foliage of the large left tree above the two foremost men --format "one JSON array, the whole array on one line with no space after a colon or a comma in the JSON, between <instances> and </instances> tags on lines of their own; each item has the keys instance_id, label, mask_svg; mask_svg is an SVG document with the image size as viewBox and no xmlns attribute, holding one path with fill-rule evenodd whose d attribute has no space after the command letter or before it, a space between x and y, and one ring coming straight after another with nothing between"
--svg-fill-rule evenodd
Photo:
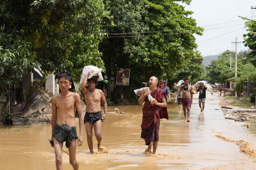
<instances>
[{"instance_id":1,"label":"foliage of the large left tree above the two foremost men","mask_svg":"<svg viewBox=\"0 0 256 170\"><path fill-rule=\"evenodd\" d=\"M103 2L98 0L1 1L0 26L9 38L4 36L5 44L0 46L16 51L19 45L12 44L23 42L31 53L26 55L31 65L28 68L37 61L43 71L57 74L67 70L78 81L85 65L104 70L98 44L104 36L101 18L107 15Z\"/></svg>"}]
</instances>

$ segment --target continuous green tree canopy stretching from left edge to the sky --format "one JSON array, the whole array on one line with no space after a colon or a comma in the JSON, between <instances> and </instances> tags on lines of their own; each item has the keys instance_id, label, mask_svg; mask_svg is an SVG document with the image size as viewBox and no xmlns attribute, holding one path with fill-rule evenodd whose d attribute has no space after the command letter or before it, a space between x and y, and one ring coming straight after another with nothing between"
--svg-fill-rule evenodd
<instances>
[{"instance_id":1,"label":"continuous green tree canopy stretching from left edge to the sky","mask_svg":"<svg viewBox=\"0 0 256 170\"><path fill-rule=\"evenodd\" d=\"M202 56L193 34L202 35L179 3L191 0L0 1L0 80L33 70L66 70L78 81L86 65L116 77L130 68L127 93L151 75L196 78ZM130 88L130 89L129 89Z\"/></svg>"}]
</instances>

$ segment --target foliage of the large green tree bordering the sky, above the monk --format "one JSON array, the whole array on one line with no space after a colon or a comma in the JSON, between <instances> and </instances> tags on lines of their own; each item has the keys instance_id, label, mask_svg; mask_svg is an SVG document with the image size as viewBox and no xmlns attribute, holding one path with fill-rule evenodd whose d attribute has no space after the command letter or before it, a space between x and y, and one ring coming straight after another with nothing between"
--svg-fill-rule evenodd
<instances>
[{"instance_id":1,"label":"foliage of the large green tree bordering the sky, above the monk","mask_svg":"<svg viewBox=\"0 0 256 170\"><path fill-rule=\"evenodd\" d=\"M193 33L201 35L203 29L188 17L192 11L185 11L182 5L167 0L104 2L112 18L103 20L103 28L109 34L100 47L102 58L109 77L116 76L118 67L131 69L132 82L130 87L124 87L126 90L140 87L142 81L152 75L177 78L181 68L190 69L191 60L197 62L199 58L202 63L195 51ZM182 2L189 4L190 1ZM191 69L198 65L194 63ZM192 75L189 71L188 74Z\"/></svg>"}]
</instances>

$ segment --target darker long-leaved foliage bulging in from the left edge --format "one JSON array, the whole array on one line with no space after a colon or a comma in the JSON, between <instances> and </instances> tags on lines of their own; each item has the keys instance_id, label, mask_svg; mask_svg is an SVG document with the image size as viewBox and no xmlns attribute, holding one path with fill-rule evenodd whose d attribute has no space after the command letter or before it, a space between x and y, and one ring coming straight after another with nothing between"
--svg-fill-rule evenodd
<instances>
[{"instance_id":1,"label":"darker long-leaved foliage bulging in from the left edge","mask_svg":"<svg viewBox=\"0 0 256 170\"><path fill-rule=\"evenodd\" d=\"M32 51L32 44L4 33L4 28L0 29L0 44L0 87L2 91L2 87L12 86L14 81L22 79L22 74L28 73L40 64L33 62L36 53Z\"/></svg>"}]
</instances>

